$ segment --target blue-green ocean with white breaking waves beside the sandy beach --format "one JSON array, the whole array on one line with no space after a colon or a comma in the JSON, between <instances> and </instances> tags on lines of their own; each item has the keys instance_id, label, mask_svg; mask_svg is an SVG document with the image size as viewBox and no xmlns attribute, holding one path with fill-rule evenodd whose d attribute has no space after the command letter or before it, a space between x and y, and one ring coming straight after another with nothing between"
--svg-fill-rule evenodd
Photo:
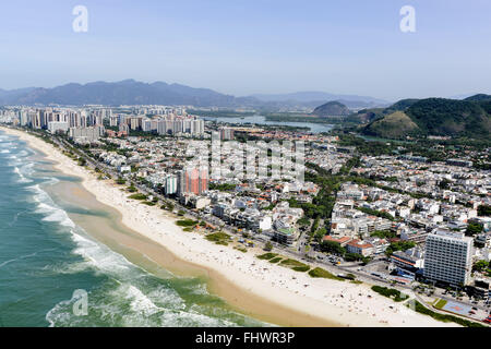
<instances>
[{"instance_id":1,"label":"blue-green ocean with white breaking waves beside the sandy beach","mask_svg":"<svg viewBox=\"0 0 491 349\"><path fill-rule=\"evenodd\" d=\"M68 189L80 185L0 131L0 326L267 325L208 293L202 277L177 276L93 238L95 228L82 222L129 232L111 213L77 205Z\"/></svg>"}]
</instances>

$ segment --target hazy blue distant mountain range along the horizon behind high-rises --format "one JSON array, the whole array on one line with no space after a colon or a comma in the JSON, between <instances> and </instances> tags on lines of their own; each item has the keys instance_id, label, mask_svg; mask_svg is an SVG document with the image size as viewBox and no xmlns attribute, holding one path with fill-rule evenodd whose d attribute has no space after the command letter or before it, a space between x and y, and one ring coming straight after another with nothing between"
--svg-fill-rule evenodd
<instances>
[{"instance_id":1,"label":"hazy blue distant mountain range along the horizon behind high-rises","mask_svg":"<svg viewBox=\"0 0 491 349\"><path fill-rule=\"evenodd\" d=\"M313 109L321 104L335 99L346 100L346 105L352 108L369 108L386 104L386 101L372 97L333 95L323 92L236 97L209 88L194 88L165 82L143 83L134 80L113 83L70 83L52 88L0 89L0 105L190 105L223 108L280 109L304 107Z\"/></svg>"}]
</instances>

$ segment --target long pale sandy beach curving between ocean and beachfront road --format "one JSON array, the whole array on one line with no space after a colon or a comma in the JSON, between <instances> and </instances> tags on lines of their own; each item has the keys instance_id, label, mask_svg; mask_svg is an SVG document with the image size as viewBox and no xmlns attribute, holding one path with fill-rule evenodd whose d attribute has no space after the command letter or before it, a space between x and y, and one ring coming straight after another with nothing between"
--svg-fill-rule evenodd
<instances>
[{"instance_id":1,"label":"long pale sandy beach curving between ocean and beachfront road","mask_svg":"<svg viewBox=\"0 0 491 349\"><path fill-rule=\"evenodd\" d=\"M368 285L311 278L261 261L253 251L242 253L214 244L202 234L185 232L168 212L128 198L129 194L121 190L124 186L97 180L50 144L25 132L0 130L46 154L47 159L57 163L56 169L82 178L86 191L121 214L123 225L165 248L152 251L148 243L142 243L142 253L164 267L185 263L203 270L209 278L209 290L246 314L286 326L457 326L418 314L379 296ZM170 252L172 258L160 261L159 251Z\"/></svg>"}]
</instances>

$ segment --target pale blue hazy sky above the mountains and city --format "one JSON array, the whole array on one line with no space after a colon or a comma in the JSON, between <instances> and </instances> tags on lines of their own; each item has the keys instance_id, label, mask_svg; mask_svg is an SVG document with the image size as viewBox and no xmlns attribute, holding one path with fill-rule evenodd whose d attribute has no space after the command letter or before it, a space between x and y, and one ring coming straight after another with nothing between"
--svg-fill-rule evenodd
<instances>
[{"instance_id":1,"label":"pale blue hazy sky above the mountains and city","mask_svg":"<svg viewBox=\"0 0 491 349\"><path fill-rule=\"evenodd\" d=\"M88 12L73 31L75 5ZM399 14L415 9L416 32ZM491 94L489 0L16 0L0 88L164 81L247 96Z\"/></svg>"}]
</instances>

